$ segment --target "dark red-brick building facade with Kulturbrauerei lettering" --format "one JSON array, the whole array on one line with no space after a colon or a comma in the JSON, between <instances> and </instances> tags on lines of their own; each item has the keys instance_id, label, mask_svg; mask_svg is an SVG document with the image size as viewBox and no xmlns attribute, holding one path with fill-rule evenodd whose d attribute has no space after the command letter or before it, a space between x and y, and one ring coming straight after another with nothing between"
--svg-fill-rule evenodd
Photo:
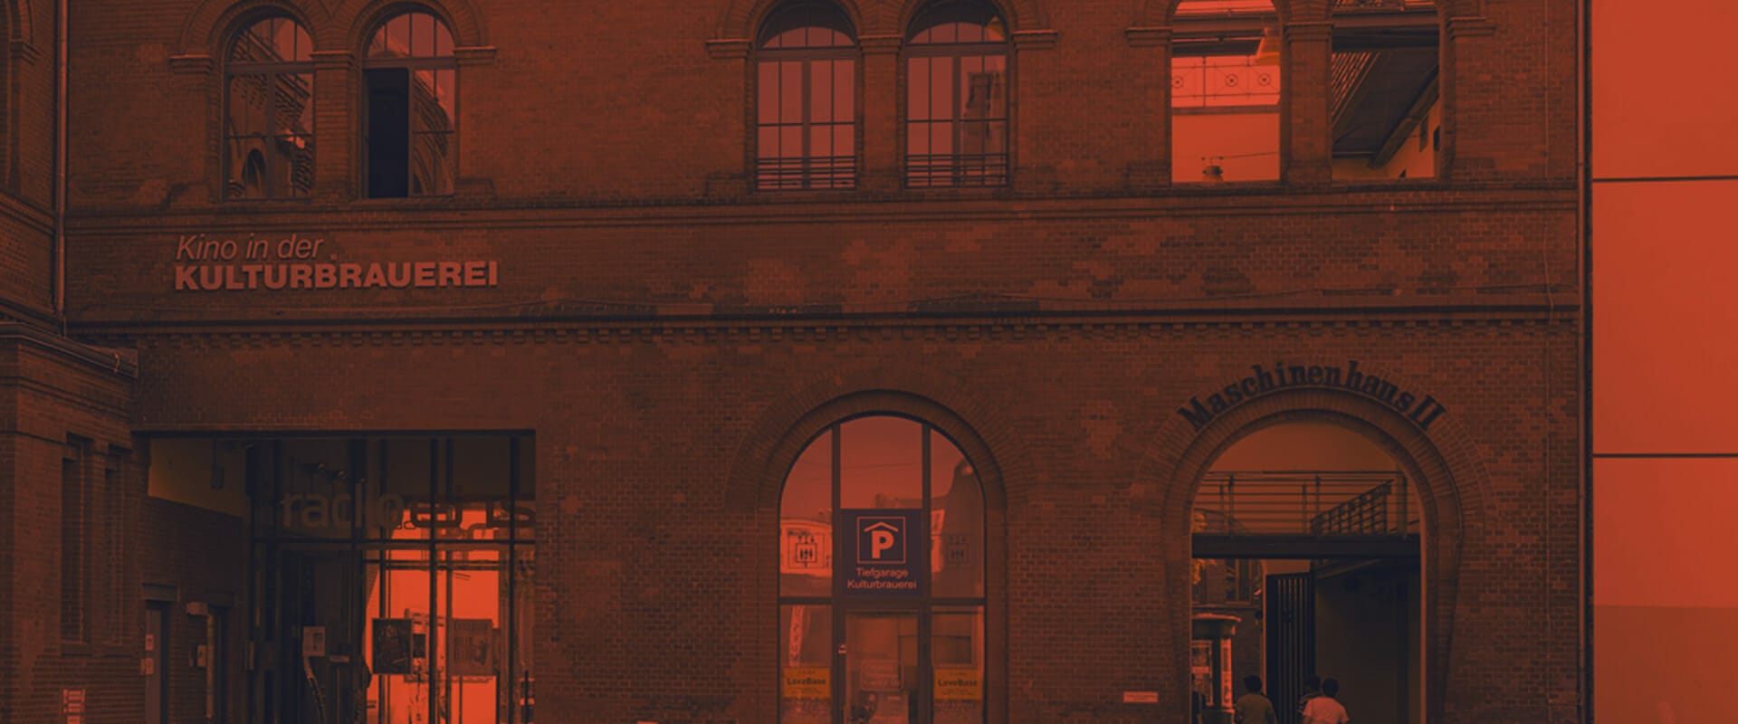
<instances>
[{"instance_id":1,"label":"dark red-brick building facade with Kulturbrauerei lettering","mask_svg":"<svg viewBox=\"0 0 1738 724\"><path fill-rule=\"evenodd\" d=\"M1408 719L1576 719L1571 0L1277 0L1255 26L1283 57L1279 179L1243 182L1175 182L1194 161L1164 141L1173 52L1255 49L1236 7L841 0L848 42L793 54L789 89L810 106L819 63L846 61L827 68L853 83L833 95L850 182L780 191L775 2L75 7L64 257L54 7L7 5L0 721L63 721L63 689L116 724L810 721L805 696L862 721L862 688L914 722L1180 722L1196 490L1291 422L1356 432L1416 491ZM1401 104L1432 108L1427 179L1335 170L1335 33L1383 12L1439 50ZM949 45L923 23L982 30ZM982 144L925 156L939 182L914 175L930 57L959 66L952 115L923 122ZM793 122L801 174L827 155L815 108ZM947 441L973 471L980 589L791 597L787 477L886 415L935 431L926 464ZM407 465L426 495L393 488ZM942 479L872 507L942 512ZM63 500L116 523L63 536ZM70 550L90 585L56 589ZM454 580L502 594L461 615ZM73 590L83 632L52 615ZM926 642L879 688L838 623L801 693L805 606L893 611ZM977 670L944 694L956 609ZM485 674L452 674L466 616L492 622ZM395 625L422 651L403 670L381 656ZM492 705L462 703L478 686Z\"/></svg>"}]
</instances>

